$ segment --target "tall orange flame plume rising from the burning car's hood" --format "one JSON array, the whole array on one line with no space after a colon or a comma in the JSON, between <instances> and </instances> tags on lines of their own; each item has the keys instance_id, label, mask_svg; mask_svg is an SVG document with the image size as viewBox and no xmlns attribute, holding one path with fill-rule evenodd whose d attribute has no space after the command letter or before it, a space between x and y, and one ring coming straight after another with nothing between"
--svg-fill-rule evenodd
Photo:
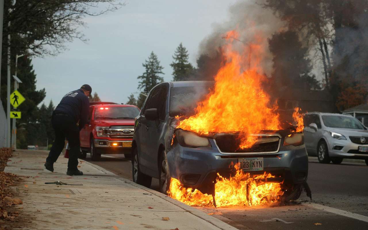
<instances>
[{"instance_id":1,"label":"tall orange flame plume rising from the burning car's hood","mask_svg":"<svg viewBox=\"0 0 368 230\"><path fill-rule=\"evenodd\" d=\"M237 36L236 31L230 31L223 38L239 42ZM180 121L177 128L202 135L240 132L241 149L249 148L256 142L256 137L249 134L282 129L277 106L270 105L269 95L262 90L266 77L259 73L256 64L262 49L254 44L248 46L251 47L247 49L251 50L251 56L241 56L232 49L231 43L222 47L226 60L215 76L213 91L198 104L196 114Z\"/></svg>"}]
</instances>

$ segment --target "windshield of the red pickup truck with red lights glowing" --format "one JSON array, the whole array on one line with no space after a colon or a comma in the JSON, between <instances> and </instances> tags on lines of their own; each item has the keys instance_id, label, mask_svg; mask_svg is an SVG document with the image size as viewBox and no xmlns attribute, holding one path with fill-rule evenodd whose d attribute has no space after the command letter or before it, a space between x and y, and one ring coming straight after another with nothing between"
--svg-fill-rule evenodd
<instances>
[{"instance_id":1,"label":"windshield of the red pickup truck with red lights glowing","mask_svg":"<svg viewBox=\"0 0 368 230\"><path fill-rule=\"evenodd\" d=\"M117 120L134 119L139 114L137 107L107 107L98 106L95 109L95 119Z\"/></svg>"}]
</instances>

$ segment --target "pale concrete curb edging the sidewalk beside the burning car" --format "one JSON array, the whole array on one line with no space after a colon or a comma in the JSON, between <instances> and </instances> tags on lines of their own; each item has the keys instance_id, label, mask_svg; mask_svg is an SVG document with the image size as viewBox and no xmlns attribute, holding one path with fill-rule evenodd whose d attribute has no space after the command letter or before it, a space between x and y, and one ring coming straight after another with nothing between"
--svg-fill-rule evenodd
<instances>
[{"instance_id":1,"label":"pale concrete curb edging the sidewalk beside the burning car","mask_svg":"<svg viewBox=\"0 0 368 230\"><path fill-rule=\"evenodd\" d=\"M79 160L83 160L83 159L79 159ZM189 205L186 205L186 204L183 204L181 203L180 201L177 201L176 199L173 199L173 198L170 198L168 197L167 195L165 194L162 194L161 192L158 192L158 191L155 191L155 190L152 190L151 188L147 188L147 187L144 187L142 185L139 185L139 184L136 184L134 183L133 181L131 180L128 180L124 177L120 177L120 176L117 176L115 173L112 173L96 164L93 164L91 162L87 162L87 161L84 161L83 163L86 163L86 164L90 164L91 166L95 167L96 169L99 169L103 172L105 172L106 174L111 174L111 175L115 175L117 177L118 180L121 180L121 181L124 181L125 183L129 182L131 185L133 185L134 187L137 187L137 188L141 188L142 190L145 190L147 192L150 192L152 193L153 195L157 196L157 197L160 197L161 199L164 199L165 201L168 201L170 202L171 204L173 205L176 205L178 206L179 208L181 209L184 209L185 211L191 213L192 215L194 216L197 216L198 218L202 219L202 220L205 220L206 222L218 227L219 229L222 229L222 230L237 230L237 228L227 224L227 223L224 223L222 222L221 220L213 217L213 216L209 216L207 215L206 213L204 212L201 212Z\"/></svg>"}]
</instances>

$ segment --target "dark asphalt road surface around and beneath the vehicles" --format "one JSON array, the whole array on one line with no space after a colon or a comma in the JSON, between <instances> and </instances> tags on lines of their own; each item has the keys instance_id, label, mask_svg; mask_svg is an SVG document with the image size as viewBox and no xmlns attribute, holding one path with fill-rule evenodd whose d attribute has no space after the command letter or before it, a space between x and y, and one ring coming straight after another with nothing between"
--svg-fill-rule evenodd
<instances>
[{"instance_id":1,"label":"dark asphalt road surface around and beneath the vehicles","mask_svg":"<svg viewBox=\"0 0 368 230\"><path fill-rule=\"evenodd\" d=\"M85 159L90 161L89 154ZM93 162L132 179L130 160L124 155L103 155ZM298 202L267 207L197 207L237 229L368 229L368 166L362 161L339 165L309 160L308 184L312 201L303 193ZM158 180L152 180L158 190Z\"/></svg>"}]
</instances>

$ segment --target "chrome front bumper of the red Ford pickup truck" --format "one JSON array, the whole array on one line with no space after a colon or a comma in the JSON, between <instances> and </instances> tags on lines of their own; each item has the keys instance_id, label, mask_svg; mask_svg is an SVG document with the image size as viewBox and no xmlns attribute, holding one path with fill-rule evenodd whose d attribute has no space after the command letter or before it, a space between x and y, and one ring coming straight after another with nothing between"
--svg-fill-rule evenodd
<instances>
[{"instance_id":1,"label":"chrome front bumper of the red Ford pickup truck","mask_svg":"<svg viewBox=\"0 0 368 230\"><path fill-rule=\"evenodd\" d=\"M93 141L98 152L103 154L131 152L132 141L109 141L106 139L95 139ZM114 143L117 145L114 146Z\"/></svg>"}]
</instances>

